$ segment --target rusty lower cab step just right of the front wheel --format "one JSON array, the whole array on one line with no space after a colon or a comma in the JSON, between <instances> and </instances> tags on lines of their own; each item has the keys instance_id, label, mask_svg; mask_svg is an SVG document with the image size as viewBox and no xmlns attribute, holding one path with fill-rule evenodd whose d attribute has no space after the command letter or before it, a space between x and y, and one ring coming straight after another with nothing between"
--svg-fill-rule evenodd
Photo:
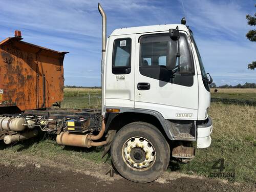
<instances>
[{"instance_id":1,"label":"rusty lower cab step just right of the front wheel","mask_svg":"<svg viewBox=\"0 0 256 192\"><path fill-rule=\"evenodd\" d=\"M172 157L181 159L193 159L195 157L195 148L188 146L177 146L173 149Z\"/></svg>"}]
</instances>

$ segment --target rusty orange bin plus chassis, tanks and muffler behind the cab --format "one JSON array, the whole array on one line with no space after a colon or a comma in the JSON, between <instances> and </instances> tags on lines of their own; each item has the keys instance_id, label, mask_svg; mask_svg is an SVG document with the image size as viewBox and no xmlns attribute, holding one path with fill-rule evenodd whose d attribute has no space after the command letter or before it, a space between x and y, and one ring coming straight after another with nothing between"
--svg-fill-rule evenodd
<instances>
[{"instance_id":1,"label":"rusty orange bin plus chassis, tanks and muffler behind the cab","mask_svg":"<svg viewBox=\"0 0 256 192\"><path fill-rule=\"evenodd\" d=\"M0 140L6 144L57 135L57 143L99 146L105 120L100 110L59 109L63 99L63 59L58 52L22 41L20 31L0 42ZM97 135L94 135L97 133Z\"/></svg>"}]
</instances>

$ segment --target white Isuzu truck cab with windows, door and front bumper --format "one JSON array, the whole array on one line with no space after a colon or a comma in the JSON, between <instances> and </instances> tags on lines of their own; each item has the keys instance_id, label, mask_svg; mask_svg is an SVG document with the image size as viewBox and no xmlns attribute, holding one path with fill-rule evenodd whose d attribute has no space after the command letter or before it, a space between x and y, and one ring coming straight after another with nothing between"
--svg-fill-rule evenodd
<instances>
[{"instance_id":1,"label":"white Isuzu truck cab with windows, door and front bumper","mask_svg":"<svg viewBox=\"0 0 256 192\"><path fill-rule=\"evenodd\" d=\"M169 36L169 29L177 26L179 61L178 42ZM106 47L104 112L151 111L167 124L210 121L208 78L188 27L173 24L116 29ZM176 67L178 70L172 74ZM193 138L200 138L198 147L210 145L211 127L197 129L197 137ZM169 127L166 131L169 139L176 140L175 130ZM184 139L181 134L177 137Z\"/></svg>"}]
</instances>

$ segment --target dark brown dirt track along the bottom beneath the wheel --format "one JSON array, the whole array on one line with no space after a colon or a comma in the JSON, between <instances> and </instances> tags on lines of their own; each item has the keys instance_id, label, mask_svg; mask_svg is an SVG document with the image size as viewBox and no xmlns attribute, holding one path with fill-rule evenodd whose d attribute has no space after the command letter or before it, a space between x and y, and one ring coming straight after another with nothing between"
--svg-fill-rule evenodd
<instances>
[{"instance_id":1,"label":"dark brown dirt track along the bottom beneath the wheel","mask_svg":"<svg viewBox=\"0 0 256 192\"><path fill-rule=\"evenodd\" d=\"M167 174L167 173L166 173ZM168 174L163 176L168 177ZM109 177L109 179L108 179ZM120 176L102 178L39 164L0 165L0 191L253 191L217 180L180 177L139 184ZM114 178L114 179L113 179Z\"/></svg>"}]
</instances>

